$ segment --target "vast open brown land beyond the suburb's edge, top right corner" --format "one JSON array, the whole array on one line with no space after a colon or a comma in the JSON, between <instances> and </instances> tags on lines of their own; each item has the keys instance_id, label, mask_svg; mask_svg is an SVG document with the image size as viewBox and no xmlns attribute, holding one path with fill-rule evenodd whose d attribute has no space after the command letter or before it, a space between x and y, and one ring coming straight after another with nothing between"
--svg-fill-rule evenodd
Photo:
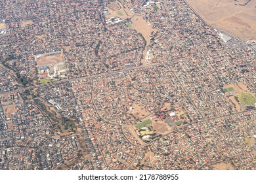
<instances>
[{"instance_id":1,"label":"vast open brown land beyond the suburb's edge, top right corner","mask_svg":"<svg viewBox=\"0 0 256 183\"><path fill-rule=\"evenodd\" d=\"M245 6L230 0L187 0L208 24L248 41L256 39L256 1Z\"/></svg>"}]
</instances>

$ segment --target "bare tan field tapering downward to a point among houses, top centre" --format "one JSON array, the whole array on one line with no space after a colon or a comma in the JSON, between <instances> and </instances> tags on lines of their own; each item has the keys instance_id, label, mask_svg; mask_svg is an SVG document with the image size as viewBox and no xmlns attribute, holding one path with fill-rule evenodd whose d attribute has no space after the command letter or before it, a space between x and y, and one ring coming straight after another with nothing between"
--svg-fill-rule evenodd
<instances>
[{"instance_id":1,"label":"bare tan field tapering downward to a point among houses, top centre","mask_svg":"<svg viewBox=\"0 0 256 183\"><path fill-rule=\"evenodd\" d=\"M141 33L144 39L146 40L146 44L150 44L150 35L154 29L148 25L146 20L143 19L143 16L135 15L131 19L133 23L131 28L135 29L138 33Z\"/></svg>"}]
</instances>

